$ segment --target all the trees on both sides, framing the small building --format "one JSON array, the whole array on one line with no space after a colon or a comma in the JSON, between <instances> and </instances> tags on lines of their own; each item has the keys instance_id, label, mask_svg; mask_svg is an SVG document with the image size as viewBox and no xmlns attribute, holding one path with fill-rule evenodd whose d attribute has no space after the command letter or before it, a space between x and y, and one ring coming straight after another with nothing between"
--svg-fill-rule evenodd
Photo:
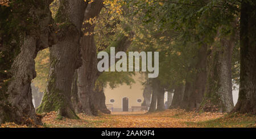
<instances>
[{"instance_id":1,"label":"all the trees on both sides, framing the small building","mask_svg":"<svg viewBox=\"0 0 256 139\"><path fill-rule=\"evenodd\" d=\"M149 111L164 109L164 92L174 91L171 108L256 113L253 1L1 1L0 13L0 123L42 124L36 112L109 113L104 86L133 82L130 72L97 70L97 53L110 47L159 52L159 77L144 83L152 88ZM35 112L34 59L48 47ZM236 107L232 81L240 82Z\"/></svg>"}]
</instances>

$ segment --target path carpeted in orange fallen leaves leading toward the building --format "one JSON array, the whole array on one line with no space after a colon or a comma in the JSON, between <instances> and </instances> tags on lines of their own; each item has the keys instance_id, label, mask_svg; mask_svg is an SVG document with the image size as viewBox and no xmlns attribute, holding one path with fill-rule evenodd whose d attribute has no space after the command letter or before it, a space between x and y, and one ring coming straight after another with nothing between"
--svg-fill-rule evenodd
<instances>
[{"instance_id":1,"label":"path carpeted in orange fallen leaves leading toward the building","mask_svg":"<svg viewBox=\"0 0 256 139\"><path fill-rule=\"evenodd\" d=\"M199 122L217 119L222 113L195 113L178 109L163 112L113 112L112 115L86 116L79 114L80 120L56 120L56 112L43 118L47 127L123 127L123 128L164 128L191 127L187 122Z\"/></svg>"}]
</instances>

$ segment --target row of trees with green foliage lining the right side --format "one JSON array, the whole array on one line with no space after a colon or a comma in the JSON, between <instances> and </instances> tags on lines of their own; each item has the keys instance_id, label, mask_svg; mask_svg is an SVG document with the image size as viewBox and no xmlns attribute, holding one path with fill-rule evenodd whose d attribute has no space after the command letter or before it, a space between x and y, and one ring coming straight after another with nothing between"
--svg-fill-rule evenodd
<instances>
[{"instance_id":1,"label":"row of trees with green foliage lining the right side","mask_svg":"<svg viewBox=\"0 0 256 139\"><path fill-rule=\"evenodd\" d=\"M159 40L148 49L159 50L162 56L159 77L151 81L149 111L163 109L164 91L174 90L170 108L255 114L255 33L250 33L255 30L255 2L131 1L131 5L147 9L136 13L144 15L141 20L147 28L141 30L147 41ZM236 84L240 92L234 107Z\"/></svg>"}]
</instances>

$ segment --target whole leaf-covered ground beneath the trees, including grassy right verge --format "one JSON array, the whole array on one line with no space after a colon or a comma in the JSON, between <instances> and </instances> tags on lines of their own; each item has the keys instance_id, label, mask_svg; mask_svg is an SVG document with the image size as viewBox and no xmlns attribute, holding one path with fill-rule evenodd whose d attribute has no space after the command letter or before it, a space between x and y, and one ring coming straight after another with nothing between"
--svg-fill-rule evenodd
<instances>
[{"instance_id":1,"label":"whole leaf-covered ground beneath the trees, including grassy right verge","mask_svg":"<svg viewBox=\"0 0 256 139\"><path fill-rule=\"evenodd\" d=\"M162 112L114 112L112 115L86 116L79 120L59 119L56 112L47 113L42 127L122 127L122 128L176 128L176 127L256 127L255 115L225 115L223 113L185 112L182 109L167 109ZM13 123L2 127L15 127ZM24 127L24 126L23 126Z\"/></svg>"}]
</instances>

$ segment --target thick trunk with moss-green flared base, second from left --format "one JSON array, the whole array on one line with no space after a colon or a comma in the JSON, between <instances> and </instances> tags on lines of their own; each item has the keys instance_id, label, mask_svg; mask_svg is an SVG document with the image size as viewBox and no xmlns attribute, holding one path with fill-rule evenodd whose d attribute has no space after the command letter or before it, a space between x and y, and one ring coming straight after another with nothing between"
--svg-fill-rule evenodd
<instances>
[{"instance_id":1,"label":"thick trunk with moss-green flared base, second from left","mask_svg":"<svg viewBox=\"0 0 256 139\"><path fill-rule=\"evenodd\" d=\"M37 112L58 111L59 116L78 119L72 103L71 88L75 70L81 66L80 37L86 2L61 0L55 17L59 22L59 41L50 48L50 70L46 92Z\"/></svg>"}]
</instances>

